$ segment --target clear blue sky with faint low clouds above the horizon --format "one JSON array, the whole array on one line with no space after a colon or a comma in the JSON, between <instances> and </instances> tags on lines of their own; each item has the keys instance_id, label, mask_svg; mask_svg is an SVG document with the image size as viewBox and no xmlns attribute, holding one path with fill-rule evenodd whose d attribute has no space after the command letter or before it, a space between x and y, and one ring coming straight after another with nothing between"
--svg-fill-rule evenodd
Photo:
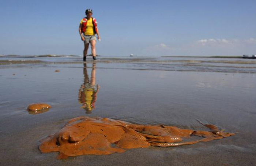
<instances>
[{"instance_id":1,"label":"clear blue sky with faint low clouds above the horizon","mask_svg":"<svg viewBox=\"0 0 256 166\"><path fill-rule=\"evenodd\" d=\"M82 55L87 8L102 56L256 54L256 0L1 0L0 54Z\"/></svg>"}]
</instances>

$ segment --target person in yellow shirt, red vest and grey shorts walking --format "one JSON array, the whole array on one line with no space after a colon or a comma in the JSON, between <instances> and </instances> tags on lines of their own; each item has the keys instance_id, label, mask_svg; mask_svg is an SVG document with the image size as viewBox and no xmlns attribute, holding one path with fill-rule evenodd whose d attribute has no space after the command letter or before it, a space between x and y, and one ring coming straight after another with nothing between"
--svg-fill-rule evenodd
<instances>
[{"instance_id":1,"label":"person in yellow shirt, red vest and grey shorts walking","mask_svg":"<svg viewBox=\"0 0 256 166\"><path fill-rule=\"evenodd\" d=\"M92 17L93 11L91 9L87 9L85 11L86 17L84 17L80 21L79 25L79 33L82 41L84 42L84 50L83 50L83 61L86 61L87 50L89 48L89 44L91 44L91 54L93 55L93 60L96 60L96 37L95 34L99 37L99 31L97 27L97 21Z\"/></svg>"}]
</instances>

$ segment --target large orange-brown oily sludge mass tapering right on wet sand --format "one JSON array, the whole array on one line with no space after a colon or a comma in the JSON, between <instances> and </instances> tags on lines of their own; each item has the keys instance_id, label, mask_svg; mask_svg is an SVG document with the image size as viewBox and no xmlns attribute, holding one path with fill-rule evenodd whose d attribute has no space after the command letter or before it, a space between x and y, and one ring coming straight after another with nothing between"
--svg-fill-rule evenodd
<instances>
[{"instance_id":1,"label":"large orange-brown oily sludge mass tapering right on wet sand","mask_svg":"<svg viewBox=\"0 0 256 166\"><path fill-rule=\"evenodd\" d=\"M205 125L207 127L207 125ZM210 128L211 129L211 128ZM199 136L197 140L182 142L182 138ZM100 117L71 119L60 131L42 140L43 153L60 152L57 159L86 154L107 155L125 149L149 146L171 147L208 142L233 136L222 131L194 131L164 125L136 125Z\"/></svg>"}]
</instances>

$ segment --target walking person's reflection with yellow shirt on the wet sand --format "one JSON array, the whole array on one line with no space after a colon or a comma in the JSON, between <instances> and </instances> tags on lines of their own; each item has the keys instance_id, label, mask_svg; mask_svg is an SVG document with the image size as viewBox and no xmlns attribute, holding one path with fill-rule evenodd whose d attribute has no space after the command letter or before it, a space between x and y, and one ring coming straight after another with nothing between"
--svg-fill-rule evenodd
<instances>
[{"instance_id":1,"label":"walking person's reflection with yellow shirt on the wet sand","mask_svg":"<svg viewBox=\"0 0 256 166\"><path fill-rule=\"evenodd\" d=\"M84 63L83 74L84 83L81 85L78 94L78 101L83 108L86 110L87 114L90 114L93 109L95 109L95 102L97 99L97 93L99 91L99 85L95 86L95 74L96 74L96 63L93 63L93 69L91 70L91 81L87 74L87 66Z\"/></svg>"}]
</instances>

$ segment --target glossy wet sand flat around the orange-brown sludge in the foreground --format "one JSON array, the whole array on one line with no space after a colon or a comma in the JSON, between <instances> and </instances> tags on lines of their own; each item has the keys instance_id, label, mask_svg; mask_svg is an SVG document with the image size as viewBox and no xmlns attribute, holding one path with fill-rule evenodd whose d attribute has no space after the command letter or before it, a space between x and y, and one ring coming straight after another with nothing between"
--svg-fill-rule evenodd
<instances>
[{"instance_id":1,"label":"glossy wet sand flat around the orange-brown sludge in the foreground","mask_svg":"<svg viewBox=\"0 0 256 166\"><path fill-rule=\"evenodd\" d=\"M1 68L1 166L255 165L255 73L131 70L125 69L127 66L96 64L95 85L100 85L100 89L97 100L88 103L95 107L90 114L81 108L78 98L81 85L87 84L83 64ZM54 72L56 69L61 72ZM89 63L87 73L91 75L91 71ZM29 114L27 106L37 102L48 103L52 108ZM39 151L40 139L79 116L204 130L199 120L238 133L193 145L136 148L121 154L81 155L63 160L56 159L58 152Z\"/></svg>"}]
</instances>

